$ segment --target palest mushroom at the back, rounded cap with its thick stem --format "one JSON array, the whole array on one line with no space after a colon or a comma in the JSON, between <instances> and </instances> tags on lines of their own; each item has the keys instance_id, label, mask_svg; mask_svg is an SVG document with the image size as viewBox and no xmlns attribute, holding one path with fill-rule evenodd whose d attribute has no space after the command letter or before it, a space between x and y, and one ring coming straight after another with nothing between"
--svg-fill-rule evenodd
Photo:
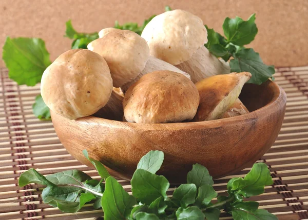
<instances>
[{"instance_id":1,"label":"palest mushroom at the back, rounded cap with its thick stem","mask_svg":"<svg viewBox=\"0 0 308 220\"><path fill-rule=\"evenodd\" d=\"M187 11L172 10L155 16L145 26L141 37L149 45L150 55L190 74L194 83L213 75L230 73L229 64L204 47L207 31L201 18ZM241 101L237 99L236 103L238 105ZM230 109L234 110L234 107Z\"/></svg>"}]
</instances>

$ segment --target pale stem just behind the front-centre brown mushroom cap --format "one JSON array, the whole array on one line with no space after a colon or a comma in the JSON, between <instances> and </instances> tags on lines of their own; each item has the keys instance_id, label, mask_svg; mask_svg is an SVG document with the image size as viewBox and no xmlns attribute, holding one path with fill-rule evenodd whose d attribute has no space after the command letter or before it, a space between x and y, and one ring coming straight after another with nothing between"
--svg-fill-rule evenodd
<instances>
[{"instance_id":1,"label":"pale stem just behind the front-centre brown mushroom cap","mask_svg":"<svg viewBox=\"0 0 308 220\"><path fill-rule=\"evenodd\" d=\"M132 81L130 81L129 83L121 86L121 90L123 91L123 93L125 93L127 91L127 89L134 83L136 83L143 75L153 72L153 71L157 71L157 70L169 70L169 71L174 71L174 72L178 72L183 74L184 76L186 76L187 78L190 78L190 75L187 74L186 72L180 70L179 68L165 62L162 61L159 58L150 56L148 61L145 64L144 69L141 71L141 73L134 78Z\"/></svg>"}]
</instances>

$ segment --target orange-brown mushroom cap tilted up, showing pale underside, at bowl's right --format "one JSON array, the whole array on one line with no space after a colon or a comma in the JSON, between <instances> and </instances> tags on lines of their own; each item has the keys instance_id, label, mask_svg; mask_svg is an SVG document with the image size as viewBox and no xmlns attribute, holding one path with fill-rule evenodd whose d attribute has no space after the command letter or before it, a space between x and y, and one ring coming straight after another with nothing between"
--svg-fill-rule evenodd
<instances>
[{"instance_id":1,"label":"orange-brown mushroom cap tilted up, showing pale underside, at bowl's right","mask_svg":"<svg viewBox=\"0 0 308 220\"><path fill-rule=\"evenodd\" d=\"M196 83L200 95L200 105L192 121L218 119L232 106L241 93L251 73L229 73L202 79Z\"/></svg>"}]
</instances>

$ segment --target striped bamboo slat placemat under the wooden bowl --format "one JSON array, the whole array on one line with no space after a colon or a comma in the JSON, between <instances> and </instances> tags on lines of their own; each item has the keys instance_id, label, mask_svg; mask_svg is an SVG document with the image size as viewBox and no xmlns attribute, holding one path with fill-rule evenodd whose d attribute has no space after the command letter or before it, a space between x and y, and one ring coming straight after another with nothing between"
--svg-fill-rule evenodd
<instances>
[{"instance_id":1,"label":"striped bamboo slat placemat under the wooden bowl","mask_svg":"<svg viewBox=\"0 0 308 220\"><path fill-rule=\"evenodd\" d=\"M6 69L0 69L0 74L0 219L103 219L103 211L91 205L75 214L62 213L42 203L43 186L17 185L18 176L29 168L42 174L79 169L93 178L99 176L63 148L50 121L39 121L32 114L40 87L17 86ZM277 141L258 161L268 165L274 185L253 199L279 219L308 219L308 66L279 68L275 77L287 93L285 118ZM234 176L244 176L248 171ZM216 191L224 194L226 183L234 176L217 179ZM130 191L129 182L119 182ZM169 194L173 190L170 188ZM232 219L225 213L221 216Z\"/></svg>"}]
</instances>

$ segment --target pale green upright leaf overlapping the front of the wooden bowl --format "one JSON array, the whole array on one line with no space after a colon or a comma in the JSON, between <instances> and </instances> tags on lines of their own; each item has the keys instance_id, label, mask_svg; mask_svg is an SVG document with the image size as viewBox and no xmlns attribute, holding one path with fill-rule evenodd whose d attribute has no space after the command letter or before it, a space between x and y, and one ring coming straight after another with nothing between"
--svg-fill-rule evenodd
<instances>
[{"instance_id":1,"label":"pale green upright leaf overlapping the front of the wooden bowl","mask_svg":"<svg viewBox=\"0 0 308 220\"><path fill-rule=\"evenodd\" d=\"M164 153L159 150L151 150L141 157L137 169L147 170L156 173L162 166L164 161Z\"/></svg>"}]
</instances>

